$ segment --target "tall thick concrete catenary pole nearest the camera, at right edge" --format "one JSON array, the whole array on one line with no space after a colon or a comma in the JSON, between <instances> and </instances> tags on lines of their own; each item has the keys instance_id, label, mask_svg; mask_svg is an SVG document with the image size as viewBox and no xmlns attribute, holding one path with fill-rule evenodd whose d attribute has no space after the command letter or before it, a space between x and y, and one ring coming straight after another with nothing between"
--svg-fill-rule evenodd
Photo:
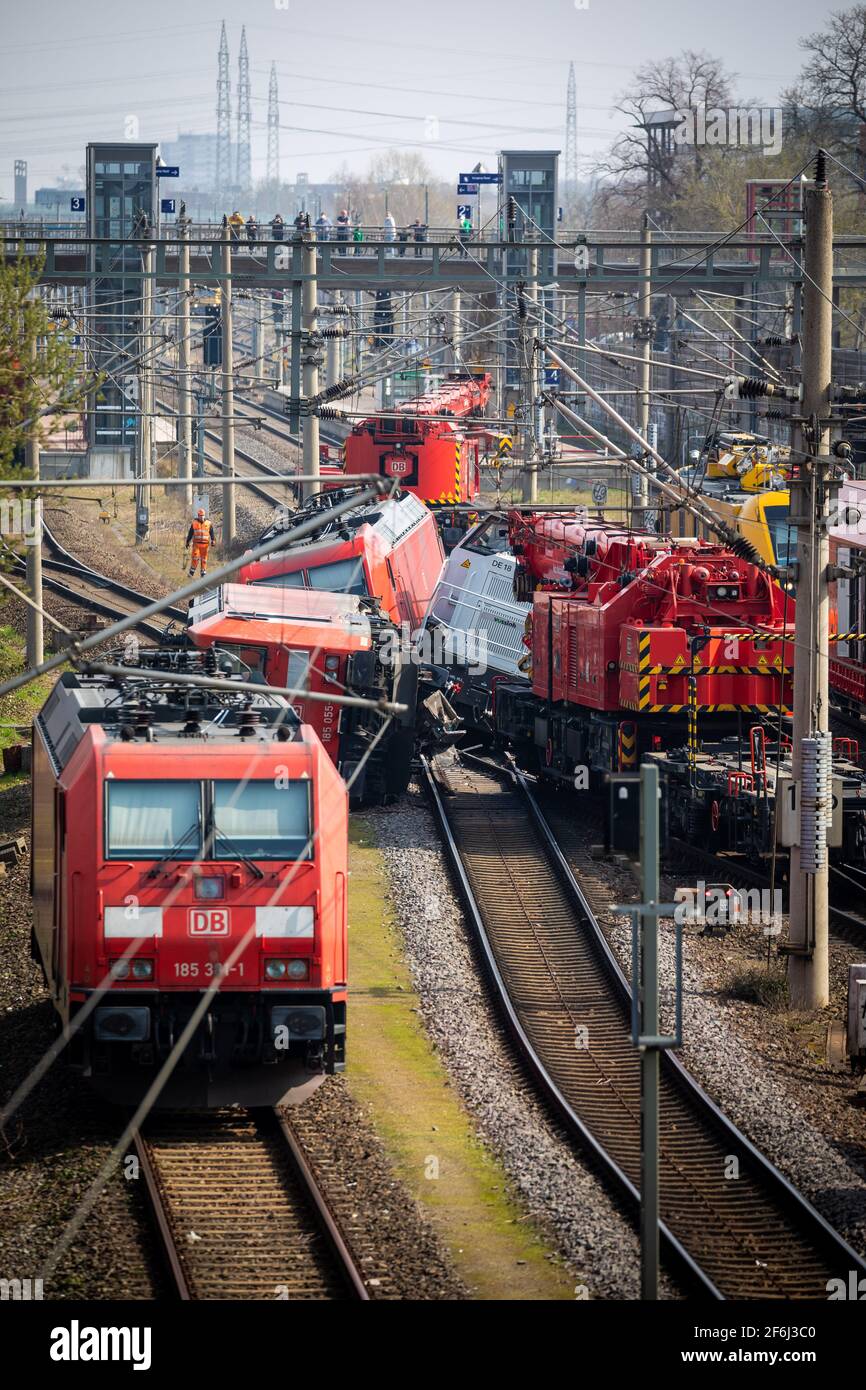
<instances>
[{"instance_id":1,"label":"tall thick concrete catenary pole nearest the camera, at right edge","mask_svg":"<svg viewBox=\"0 0 866 1390\"><path fill-rule=\"evenodd\" d=\"M796 631L794 657L794 781L799 783L801 840L815 744L828 741L830 564L827 486L828 464L816 456L830 449L830 378L833 348L833 195L827 188L823 152L815 183L805 189L802 384L803 424L794 446L808 459L791 486L791 520L796 525ZM816 421L817 430L810 428ZM823 737L822 737L823 735ZM803 748L803 739L808 739ZM803 756L806 755L806 756ZM806 763L806 766L803 766ZM819 787L819 801L826 801ZM827 810L827 808L823 808ZM817 808L822 819L822 806ZM809 870L813 872L809 872ZM791 927L788 988L795 1009L820 1009L830 1002L827 849L808 841L791 849Z\"/></svg>"}]
</instances>

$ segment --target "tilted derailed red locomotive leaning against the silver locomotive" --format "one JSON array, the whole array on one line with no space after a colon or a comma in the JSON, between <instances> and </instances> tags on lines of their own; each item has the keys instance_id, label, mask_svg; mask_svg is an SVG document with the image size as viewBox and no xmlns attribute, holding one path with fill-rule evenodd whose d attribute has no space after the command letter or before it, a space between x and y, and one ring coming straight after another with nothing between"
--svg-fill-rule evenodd
<instances>
[{"instance_id":1,"label":"tilted derailed red locomotive leaning against the silver locomotive","mask_svg":"<svg viewBox=\"0 0 866 1390\"><path fill-rule=\"evenodd\" d=\"M306 507L270 527L260 541L310 517L322 517L314 538L245 564L238 580L377 599L391 623L406 623L410 630L420 627L445 560L432 516L417 498L398 493L363 503L328 523L327 513L349 496L349 489L321 492Z\"/></svg>"}]
</instances>

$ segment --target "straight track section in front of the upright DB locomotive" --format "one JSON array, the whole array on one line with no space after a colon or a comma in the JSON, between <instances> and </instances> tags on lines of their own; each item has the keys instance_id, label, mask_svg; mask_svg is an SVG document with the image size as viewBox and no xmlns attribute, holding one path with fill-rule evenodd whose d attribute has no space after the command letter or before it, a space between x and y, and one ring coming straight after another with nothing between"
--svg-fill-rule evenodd
<instances>
[{"instance_id":1,"label":"straight track section in front of the upright DB locomotive","mask_svg":"<svg viewBox=\"0 0 866 1390\"><path fill-rule=\"evenodd\" d=\"M133 1148L177 1298L368 1300L279 1112L154 1115Z\"/></svg>"}]
</instances>

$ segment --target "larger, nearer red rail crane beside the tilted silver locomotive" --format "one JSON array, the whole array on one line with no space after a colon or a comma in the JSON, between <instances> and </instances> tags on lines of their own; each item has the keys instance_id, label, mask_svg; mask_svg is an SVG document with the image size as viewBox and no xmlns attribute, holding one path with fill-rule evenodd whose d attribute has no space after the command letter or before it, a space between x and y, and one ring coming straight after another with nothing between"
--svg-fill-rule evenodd
<instances>
[{"instance_id":1,"label":"larger, nearer red rail crane beside the tilted silver locomotive","mask_svg":"<svg viewBox=\"0 0 866 1390\"><path fill-rule=\"evenodd\" d=\"M541 512L512 512L509 530L531 664L496 685L498 735L577 790L657 759L670 835L771 855L791 777L792 598L723 545ZM828 844L863 867L866 774L852 739L828 756Z\"/></svg>"}]
</instances>

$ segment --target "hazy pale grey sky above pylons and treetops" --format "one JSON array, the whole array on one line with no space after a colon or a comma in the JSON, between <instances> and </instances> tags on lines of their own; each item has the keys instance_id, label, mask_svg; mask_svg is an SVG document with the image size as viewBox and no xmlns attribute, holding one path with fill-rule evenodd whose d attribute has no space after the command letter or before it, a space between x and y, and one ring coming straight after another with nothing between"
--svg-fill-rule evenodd
<instances>
[{"instance_id":1,"label":"hazy pale grey sky above pylons and treetops","mask_svg":"<svg viewBox=\"0 0 866 1390\"><path fill-rule=\"evenodd\" d=\"M31 197L88 140L215 128L225 19L232 126L240 25L253 92L253 177L264 175L267 86L279 74L281 175L363 171L389 146L418 149L443 178L503 146L562 147L566 82L578 83L581 175L621 122L612 107L634 68L705 49L740 95L774 104L799 71L798 38L833 8L806 0L0 0L0 197L13 160ZM232 129L234 135L234 129Z\"/></svg>"}]
</instances>

